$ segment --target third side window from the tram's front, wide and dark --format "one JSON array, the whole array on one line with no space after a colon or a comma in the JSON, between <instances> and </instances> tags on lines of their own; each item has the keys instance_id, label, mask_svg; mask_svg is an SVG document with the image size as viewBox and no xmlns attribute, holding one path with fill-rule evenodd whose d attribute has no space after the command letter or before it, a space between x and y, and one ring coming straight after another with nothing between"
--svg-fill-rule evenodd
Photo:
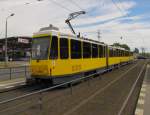
<instances>
[{"instance_id":1,"label":"third side window from the tram's front, wide and dark","mask_svg":"<svg viewBox=\"0 0 150 115\"><path fill-rule=\"evenodd\" d=\"M81 58L81 42L77 40L71 40L71 58Z\"/></svg>"}]
</instances>

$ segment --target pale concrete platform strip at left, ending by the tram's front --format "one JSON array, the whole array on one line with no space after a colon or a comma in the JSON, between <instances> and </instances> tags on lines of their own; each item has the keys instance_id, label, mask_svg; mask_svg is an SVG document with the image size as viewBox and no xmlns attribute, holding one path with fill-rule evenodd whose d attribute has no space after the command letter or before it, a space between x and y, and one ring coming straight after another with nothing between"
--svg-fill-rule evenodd
<instances>
[{"instance_id":1,"label":"pale concrete platform strip at left, ending by the tram's front","mask_svg":"<svg viewBox=\"0 0 150 115\"><path fill-rule=\"evenodd\" d=\"M12 80L0 81L0 92L9 91L25 84L25 78L16 78Z\"/></svg>"}]
</instances>

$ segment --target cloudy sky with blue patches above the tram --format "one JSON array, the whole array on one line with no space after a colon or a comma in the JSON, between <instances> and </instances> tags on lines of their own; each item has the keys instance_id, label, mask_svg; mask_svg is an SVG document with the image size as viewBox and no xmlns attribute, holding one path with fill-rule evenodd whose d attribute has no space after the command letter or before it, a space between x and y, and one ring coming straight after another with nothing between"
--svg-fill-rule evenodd
<instances>
[{"instance_id":1,"label":"cloudy sky with blue patches above the tram","mask_svg":"<svg viewBox=\"0 0 150 115\"><path fill-rule=\"evenodd\" d=\"M32 36L49 24L72 34L65 20L81 10L86 14L71 21L76 33L98 40L99 30L101 42L150 52L150 0L0 0L0 38L11 13L15 15L8 18L8 36Z\"/></svg>"}]
</instances>

